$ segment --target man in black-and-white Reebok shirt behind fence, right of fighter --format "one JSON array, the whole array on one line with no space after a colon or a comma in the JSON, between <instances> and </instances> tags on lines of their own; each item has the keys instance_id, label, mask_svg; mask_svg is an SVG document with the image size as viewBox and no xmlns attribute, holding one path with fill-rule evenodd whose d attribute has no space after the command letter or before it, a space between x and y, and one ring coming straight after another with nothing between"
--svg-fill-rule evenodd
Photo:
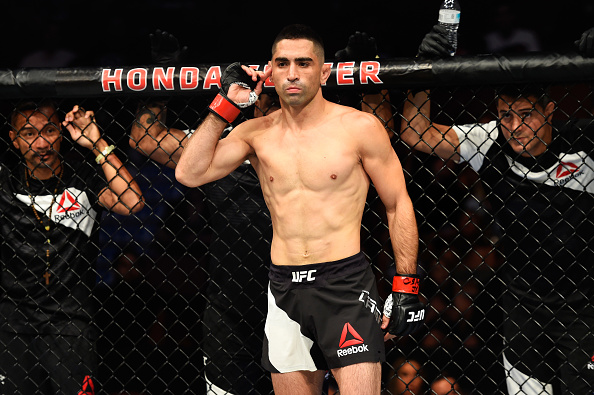
<instances>
[{"instance_id":1,"label":"man in black-and-white Reebok shirt behind fence, right of fighter","mask_svg":"<svg viewBox=\"0 0 594 395\"><path fill-rule=\"evenodd\" d=\"M592 55L592 32L578 43ZM589 37L589 38L588 38ZM449 56L440 26L419 56ZM467 162L481 178L501 229L506 259L501 297L510 394L594 387L594 122L556 121L539 86L498 92L497 119L469 125L430 122L427 92L410 93L401 137L416 150Z\"/></svg>"}]
</instances>

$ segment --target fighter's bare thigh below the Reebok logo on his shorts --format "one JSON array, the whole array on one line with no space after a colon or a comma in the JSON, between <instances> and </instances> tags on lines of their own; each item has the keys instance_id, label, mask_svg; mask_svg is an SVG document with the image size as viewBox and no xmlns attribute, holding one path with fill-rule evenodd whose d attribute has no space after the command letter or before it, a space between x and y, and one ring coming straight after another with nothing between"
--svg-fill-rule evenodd
<instances>
[{"instance_id":1,"label":"fighter's bare thigh below the Reebok logo on his shorts","mask_svg":"<svg viewBox=\"0 0 594 395\"><path fill-rule=\"evenodd\" d=\"M379 395L382 368L379 362L362 362L332 369L340 395Z\"/></svg>"}]
</instances>

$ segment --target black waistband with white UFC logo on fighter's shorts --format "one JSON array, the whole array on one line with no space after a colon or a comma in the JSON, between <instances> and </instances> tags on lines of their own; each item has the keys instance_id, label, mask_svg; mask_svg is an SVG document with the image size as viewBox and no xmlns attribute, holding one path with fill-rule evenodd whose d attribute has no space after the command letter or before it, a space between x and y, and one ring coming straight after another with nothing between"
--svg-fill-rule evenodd
<instances>
[{"instance_id":1,"label":"black waistband with white UFC logo on fighter's shorts","mask_svg":"<svg viewBox=\"0 0 594 395\"><path fill-rule=\"evenodd\" d=\"M317 279L342 277L361 271L369 266L363 252L337 261L312 263L309 265L275 265L270 263L268 277L275 282L312 282Z\"/></svg>"}]
</instances>

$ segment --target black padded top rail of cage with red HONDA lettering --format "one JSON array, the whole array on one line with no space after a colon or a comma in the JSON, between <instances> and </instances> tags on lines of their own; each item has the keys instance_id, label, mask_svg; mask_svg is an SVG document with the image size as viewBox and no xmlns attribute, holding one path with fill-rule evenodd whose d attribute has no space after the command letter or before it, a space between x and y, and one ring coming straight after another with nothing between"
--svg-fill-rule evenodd
<instances>
[{"instance_id":1,"label":"black padded top rail of cage with red HONDA lettering","mask_svg":"<svg viewBox=\"0 0 594 395\"><path fill-rule=\"evenodd\" d=\"M403 88L456 84L584 82L594 79L594 59L576 54L533 53L513 56L456 56L437 61L410 58L328 63L327 88L340 86ZM258 70L267 64L250 64ZM210 94L217 92L227 64L175 67L109 67L0 70L0 98L97 97L118 93ZM454 82L455 81L455 82ZM272 89L267 81L265 89Z\"/></svg>"}]
</instances>

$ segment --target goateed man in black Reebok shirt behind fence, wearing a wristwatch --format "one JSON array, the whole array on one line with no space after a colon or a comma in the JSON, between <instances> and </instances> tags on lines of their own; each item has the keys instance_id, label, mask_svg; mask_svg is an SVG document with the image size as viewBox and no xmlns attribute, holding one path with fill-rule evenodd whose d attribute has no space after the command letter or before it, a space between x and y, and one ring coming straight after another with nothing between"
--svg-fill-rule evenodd
<instances>
[{"instance_id":1,"label":"goateed man in black Reebok shirt behind fence, wearing a wristwatch","mask_svg":"<svg viewBox=\"0 0 594 395\"><path fill-rule=\"evenodd\" d=\"M64 160L62 126L98 167ZM141 191L92 111L60 122L54 103L27 102L11 128L23 160L0 165L0 392L93 394L98 220L142 209Z\"/></svg>"}]
</instances>

